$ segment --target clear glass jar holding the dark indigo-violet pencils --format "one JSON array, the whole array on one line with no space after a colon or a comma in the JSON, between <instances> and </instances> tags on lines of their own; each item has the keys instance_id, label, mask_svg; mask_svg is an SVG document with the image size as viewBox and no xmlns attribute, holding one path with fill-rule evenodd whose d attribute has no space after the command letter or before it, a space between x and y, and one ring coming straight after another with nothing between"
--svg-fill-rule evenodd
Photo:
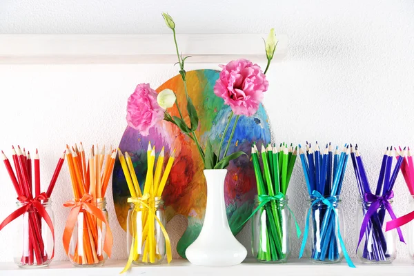
<instances>
[{"instance_id":1,"label":"clear glass jar holding the dark indigo-violet pencils","mask_svg":"<svg viewBox=\"0 0 414 276\"><path fill-rule=\"evenodd\" d=\"M393 204L393 200L390 199L388 202ZM362 226L362 221L368 208L371 207L372 202L358 199L358 210L357 210L357 226L358 237L359 230ZM362 238L361 244L359 244L357 250L357 257L364 263L371 264L390 264L397 257L397 231L391 230L386 232L385 226L386 221L391 221L391 217L384 205L381 205L376 212L371 216L364 237Z\"/></svg>"}]
</instances>

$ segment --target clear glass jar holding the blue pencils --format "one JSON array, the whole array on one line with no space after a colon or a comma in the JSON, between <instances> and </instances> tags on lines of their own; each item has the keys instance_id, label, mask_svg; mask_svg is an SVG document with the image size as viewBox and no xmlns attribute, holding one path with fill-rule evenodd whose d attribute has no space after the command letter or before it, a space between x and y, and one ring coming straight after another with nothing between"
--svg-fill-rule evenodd
<instances>
[{"instance_id":1,"label":"clear glass jar holding the blue pencils","mask_svg":"<svg viewBox=\"0 0 414 276\"><path fill-rule=\"evenodd\" d=\"M315 263L337 263L344 259L344 253L339 244L339 236L337 229L341 231L342 239L345 239L345 224L340 209L339 196L335 196L335 201L332 201L333 208L328 208L322 201L315 202L315 198L311 197L311 215L309 216L309 230L306 247L307 255L312 262ZM308 211L309 211L308 209ZM339 225L338 225L339 221Z\"/></svg>"}]
</instances>

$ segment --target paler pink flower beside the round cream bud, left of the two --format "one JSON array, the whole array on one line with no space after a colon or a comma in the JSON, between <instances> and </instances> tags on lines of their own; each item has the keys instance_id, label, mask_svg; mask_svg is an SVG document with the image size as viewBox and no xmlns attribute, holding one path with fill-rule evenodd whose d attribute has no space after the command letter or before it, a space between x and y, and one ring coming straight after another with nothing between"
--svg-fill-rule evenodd
<instances>
[{"instance_id":1,"label":"paler pink flower beside the round cream bud, left of the two","mask_svg":"<svg viewBox=\"0 0 414 276\"><path fill-rule=\"evenodd\" d=\"M164 119L164 110L157 103L157 92L148 83L137 85L128 98L126 121L128 126L147 136L148 130Z\"/></svg>"}]
</instances>

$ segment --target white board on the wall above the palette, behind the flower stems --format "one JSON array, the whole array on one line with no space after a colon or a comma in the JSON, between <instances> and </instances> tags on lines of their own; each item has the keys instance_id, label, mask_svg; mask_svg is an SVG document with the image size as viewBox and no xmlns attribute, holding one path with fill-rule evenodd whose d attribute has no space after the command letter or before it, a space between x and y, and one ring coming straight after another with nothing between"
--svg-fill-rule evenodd
<instances>
[{"instance_id":1,"label":"white board on the wall above the palette, behind the flower stems","mask_svg":"<svg viewBox=\"0 0 414 276\"><path fill-rule=\"evenodd\" d=\"M266 34L177 34L188 63L266 61ZM288 39L277 35L275 59ZM0 63L175 63L172 34L0 34Z\"/></svg>"}]
</instances>

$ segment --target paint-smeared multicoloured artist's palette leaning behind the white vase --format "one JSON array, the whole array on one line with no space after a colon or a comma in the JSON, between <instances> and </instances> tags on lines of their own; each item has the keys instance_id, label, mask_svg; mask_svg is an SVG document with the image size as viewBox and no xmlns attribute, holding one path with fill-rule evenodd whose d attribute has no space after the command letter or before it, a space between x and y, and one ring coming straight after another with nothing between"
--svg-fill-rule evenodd
<instances>
[{"instance_id":1,"label":"paint-smeared multicoloured artist's palette leaning behind the white vase","mask_svg":"<svg viewBox=\"0 0 414 276\"><path fill-rule=\"evenodd\" d=\"M230 108L225 106L224 101L216 97L213 92L218 77L219 71L217 70L187 72L188 93L193 99L200 119L197 136L201 137L203 145L206 144L207 139L210 139L215 150L219 148L221 135L223 135L230 115ZM181 103L181 110L186 110L186 95L181 76L177 75L169 79L157 88L157 92L165 88L175 91L178 101ZM131 88L132 91L133 88ZM185 111L184 114L186 114ZM178 116L176 108L172 109L172 115ZM233 126L233 123L230 125ZM229 134L226 135L225 144L228 136ZM128 151L130 153L141 187L144 185L146 175L148 141L151 141L151 144L158 150L162 146L166 146L166 153L176 149L175 164L164 190L164 201L168 220L175 215L188 217L188 227L177 244L179 255L185 257L186 248L199 235L206 210L207 191L203 174L204 166L193 141L182 135L176 126L161 121L150 130L148 137L143 137L137 130L127 127L119 148L122 152ZM239 119L229 152L235 150L250 152L252 141L257 141L260 144L270 142L270 126L263 106L260 106L255 116ZM222 151L224 152L224 148ZM167 158L168 153L166 154ZM250 162L250 153L249 157L243 156L235 161L230 161L227 169L228 175L224 190L226 210L230 228L234 234L237 234L241 230L238 226L250 215L253 208L253 198L257 195L255 172ZM119 224L126 229L126 215L129 208L126 199L129 197L129 191L119 161L115 164L113 173L112 193Z\"/></svg>"}]
</instances>

